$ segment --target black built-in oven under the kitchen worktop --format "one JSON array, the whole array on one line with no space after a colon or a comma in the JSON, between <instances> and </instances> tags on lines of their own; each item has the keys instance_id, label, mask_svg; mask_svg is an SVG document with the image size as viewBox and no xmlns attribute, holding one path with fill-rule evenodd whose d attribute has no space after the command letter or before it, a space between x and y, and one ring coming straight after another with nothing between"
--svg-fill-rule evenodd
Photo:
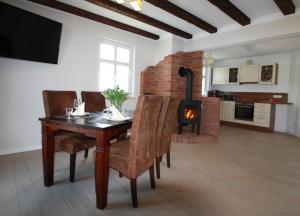
<instances>
[{"instance_id":1,"label":"black built-in oven under the kitchen worktop","mask_svg":"<svg viewBox=\"0 0 300 216\"><path fill-rule=\"evenodd\" d=\"M253 121L254 103L236 102L234 118L238 120Z\"/></svg>"}]
</instances>

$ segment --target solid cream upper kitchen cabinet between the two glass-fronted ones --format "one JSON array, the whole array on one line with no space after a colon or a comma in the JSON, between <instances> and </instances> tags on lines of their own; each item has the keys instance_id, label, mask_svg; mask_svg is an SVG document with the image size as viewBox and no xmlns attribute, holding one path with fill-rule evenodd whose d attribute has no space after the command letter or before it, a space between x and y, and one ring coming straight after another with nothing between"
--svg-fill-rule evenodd
<instances>
[{"instance_id":1,"label":"solid cream upper kitchen cabinet between the two glass-fronted ones","mask_svg":"<svg viewBox=\"0 0 300 216\"><path fill-rule=\"evenodd\" d=\"M240 67L240 83L258 83L259 82L260 65L250 64L241 65Z\"/></svg>"}]
</instances>

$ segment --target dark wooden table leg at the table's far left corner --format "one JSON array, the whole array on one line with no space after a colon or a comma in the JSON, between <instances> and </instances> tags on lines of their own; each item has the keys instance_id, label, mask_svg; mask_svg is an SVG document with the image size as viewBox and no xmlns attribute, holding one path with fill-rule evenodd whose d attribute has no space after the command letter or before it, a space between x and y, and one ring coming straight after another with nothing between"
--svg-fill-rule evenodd
<instances>
[{"instance_id":1,"label":"dark wooden table leg at the table's far left corner","mask_svg":"<svg viewBox=\"0 0 300 216\"><path fill-rule=\"evenodd\" d=\"M44 185L53 185L54 175L54 132L49 130L46 123L42 123L42 157L44 171Z\"/></svg>"}]
</instances>

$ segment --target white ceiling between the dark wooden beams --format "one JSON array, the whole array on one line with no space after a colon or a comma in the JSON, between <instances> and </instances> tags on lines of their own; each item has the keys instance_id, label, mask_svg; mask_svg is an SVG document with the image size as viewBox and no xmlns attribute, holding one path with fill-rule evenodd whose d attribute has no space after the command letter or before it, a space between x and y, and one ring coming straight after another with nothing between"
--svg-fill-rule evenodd
<instances>
[{"instance_id":1,"label":"white ceiling between the dark wooden beams","mask_svg":"<svg viewBox=\"0 0 300 216\"><path fill-rule=\"evenodd\" d=\"M80 7L85 10L97 13L99 15L150 31L151 33L158 34L161 37L167 37L170 33L155 28L153 26L147 25L145 23L136 21L132 18L120 15L118 13L112 12L110 10L101 8L97 5L89 3L85 0L59 0L61 2L71 4L76 7ZM115 0L113 0L115 1ZM130 7L129 0L126 6ZM206 22L216 26L219 30L226 29L230 26L236 26L242 28L234 20L216 8L214 5L209 3L207 0L170 0L170 2L178 5L179 7L187 10L188 12L198 16L199 18L205 20ZM276 6L273 0L231 0L241 11L243 11L252 22L257 19L267 17L273 14L282 16L279 8ZM293 0L296 7L300 7L300 0ZM198 34L203 34L205 31L199 29L198 27L172 15L168 12L161 10L148 2L143 1L143 10L141 13L172 25L176 28L184 30L194 36Z\"/></svg>"}]
</instances>

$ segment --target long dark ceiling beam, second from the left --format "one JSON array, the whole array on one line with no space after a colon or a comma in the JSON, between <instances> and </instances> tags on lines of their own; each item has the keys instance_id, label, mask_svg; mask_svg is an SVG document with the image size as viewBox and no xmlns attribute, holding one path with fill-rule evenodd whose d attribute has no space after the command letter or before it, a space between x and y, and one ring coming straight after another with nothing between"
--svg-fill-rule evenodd
<instances>
[{"instance_id":1,"label":"long dark ceiling beam, second from the left","mask_svg":"<svg viewBox=\"0 0 300 216\"><path fill-rule=\"evenodd\" d=\"M148 25L152 25L156 28L162 29L164 31L170 32L174 35L178 35L180 37L191 39L193 35L184 32L178 28L175 28L173 26L170 26L166 23L163 23L159 20L153 19L152 17L146 16L144 14L141 14L139 12L136 12L134 10L129 9L128 7L125 7L121 4L118 4L116 2L110 1L110 0L86 0L88 2L91 2L93 4L96 4L98 6L104 7L106 9L109 9L111 11L120 13L124 16L131 17L133 19L139 20L143 23L146 23Z\"/></svg>"}]
</instances>

